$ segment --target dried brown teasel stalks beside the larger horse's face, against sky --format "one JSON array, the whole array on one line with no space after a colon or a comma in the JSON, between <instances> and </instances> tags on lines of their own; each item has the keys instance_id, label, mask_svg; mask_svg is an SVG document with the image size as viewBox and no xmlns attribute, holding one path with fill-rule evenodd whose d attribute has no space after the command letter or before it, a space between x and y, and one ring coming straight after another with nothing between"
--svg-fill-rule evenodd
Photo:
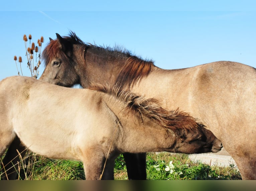
<instances>
[{"instance_id":1,"label":"dried brown teasel stalks beside the larger horse's face, against sky","mask_svg":"<svg viewBox=\"0 0 256 191\"><path fill-rule=\"evenodd\" d=\"M25 42L25 50L26 50L26 57L27 57L27 68L30 71L31 77L37 79L38 78L38 74L39 74L39 70L38 68L40 67L41 64L41 49L42 49L42 43L44 42L43 37L41 36L40 39L37 40L37 46L35 46L35 43L31 42L32 40L32 35L29 35L28 38L26 35L23 36L23 40ZM27 44L29 40L29 45ZM18 70L18 75L20 75L19 69L18 69L18 65L17 65L17 57L14 56L14 61L16 63L16 68ZM18 62L20 63L20 71L21 71L21 75L23 76L22 73L22 67L21 67L21 63L22 63L22 58L19 57Z\"/></svg>"}]
</instances>

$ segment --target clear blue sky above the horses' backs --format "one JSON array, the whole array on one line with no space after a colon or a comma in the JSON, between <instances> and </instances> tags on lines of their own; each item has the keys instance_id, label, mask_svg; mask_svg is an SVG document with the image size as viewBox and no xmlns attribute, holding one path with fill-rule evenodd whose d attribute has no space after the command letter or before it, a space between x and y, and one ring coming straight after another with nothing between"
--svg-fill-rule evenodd
<instances>
[{"instance_id":1,"label":"clear blue sky above the horses' backs","mask_svg":"<svg viewBox=\"0 0 256 191\"><path fill-rule=\"evenodd\" d=\"M84 42L123 46L164 69L220 60L256 68L255 1L8 1L0 8L0 80L17 75L14 55L23 59L23 35L45 43L74 31ZM33 11L31 11L33 10ZM42 67L42 66L41 66ZM43 72L43 68L39 70Z\"/></svg>"}]
</instances>

